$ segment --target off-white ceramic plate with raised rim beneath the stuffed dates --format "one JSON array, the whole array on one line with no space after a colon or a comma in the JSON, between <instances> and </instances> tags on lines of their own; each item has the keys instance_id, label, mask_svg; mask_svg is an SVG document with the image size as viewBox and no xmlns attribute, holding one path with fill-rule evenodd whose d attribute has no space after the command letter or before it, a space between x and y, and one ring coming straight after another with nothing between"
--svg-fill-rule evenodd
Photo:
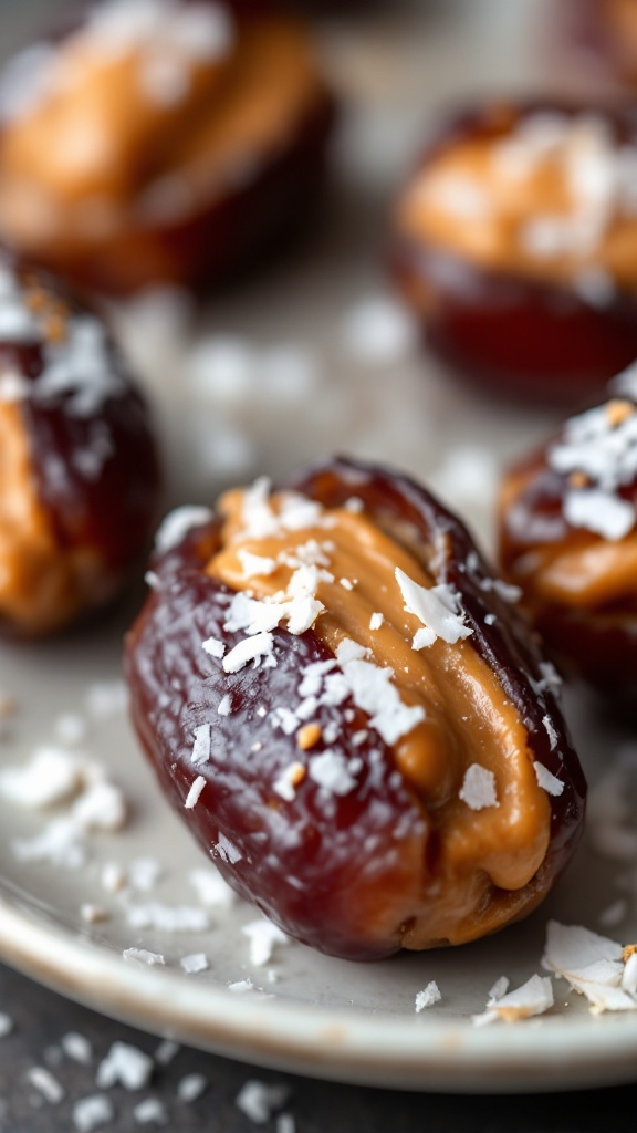
<instances>
[{"instance_id":1,"label":"off-white ceramic plate with raised rim beneath the stuffed dates","mask_svg":"<svg viewBox=\"0 0 637 1133\"><path fill-rule=\"evenodd\" d=\"M552 6L449 0L431 10L426 3L406 5L405 11L387 7L384 19L324 29L326 58L353 110L320 239L188 326L173 303L162 307L156 299L114 315L158 406L175 501L210 501L228 480L277 475L340 450L426 479L489 545L498 470L544 435L551 415L486 403L405 343L398 349L394 342L384 364L365 360L348 346L342 320L362 298L385 288L380 252L388 198L436 101L457 95L460 83L465 94L545 82L534 50ZM231 389L219 376L203 378L193 361L194 343L211 332L239 339ZM269 369L255 364L263 351ZM60 715L79 715L86 734L76 750L108 767L129 809L121 832L88 837L84 863L68 869L16 857L16 840L42 834L49 817L0 802L3 960L153 1032L316 1076L478 1091L568 1089L637 1076L637 1012L593 1017L566 983L555 981L555 1007L540 1019L479 1029L472 1022L500 976L517 986L540 970L550 917L598 929L620 897L623 914L613 935L622 943L637 938L631 893L617 888L629 863L604 861L587 842L542 911L458 951L355 965L287 944L258 966L241 932L254 913L241 904L207 909L209 923L196 932L135 927L130 917L150 902L196 905L190 870L213 869L160 796L117 687L110 699L95 696L96 684L103 691L104 682L120 678L121 636L135 608L133 600L117 623L62 640L0 647L0 689L17 702L0 740L0 767L59 742ZM627 736L604 725L583 697L571 697L568 713L594 781ZM103 888L105 863L126 867L141 858L161 867L152 892ZM86 903L103 906L108 919L88 925L80 913ZM165 964L127 963L122 952L129 947L161 953ZM205 953L210 966L186 974L179 962L195 953ZM248 979L253 990L229 990L229 983ZM430 980L442 999L417 1015L416 993Z\"/></svg>"}]
</instances>

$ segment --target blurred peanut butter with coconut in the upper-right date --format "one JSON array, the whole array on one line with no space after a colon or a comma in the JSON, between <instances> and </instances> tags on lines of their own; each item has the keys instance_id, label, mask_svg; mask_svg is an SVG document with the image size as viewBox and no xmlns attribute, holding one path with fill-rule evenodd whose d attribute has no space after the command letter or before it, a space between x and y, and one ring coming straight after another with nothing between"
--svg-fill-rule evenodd
<instances>
[{"instance_id":1,"label":"blurred peanut butter with coconut in the upper-right date","mask_svg":"<svg viewBox=\"0 0 637 1133\"><path fill-rule=\"evenodd\" d=\"M399 232L604 306L637 284L637 151L601 114L536 112L451 142L407 187Z\"/></svg>"}]
</instances>

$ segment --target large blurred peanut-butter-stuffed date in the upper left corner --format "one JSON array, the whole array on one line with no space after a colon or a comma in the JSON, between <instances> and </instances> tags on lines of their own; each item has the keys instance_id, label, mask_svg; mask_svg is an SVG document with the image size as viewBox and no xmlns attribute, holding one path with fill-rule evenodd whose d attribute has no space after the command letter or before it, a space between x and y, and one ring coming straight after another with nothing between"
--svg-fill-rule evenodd
<instances>
[{"instance_id":1,"label":"large blurred peanut-butter-stuffed date in the upper left corner","mask_svg":"<svg viewBox=\"0 0 637 1133\"><path fill-rule=\"evenodd\" d=\"M304 230L334 119L262 0L97 0L0 76L0 233L83 288L222 283Z\"/></svg>"}]
</instances>

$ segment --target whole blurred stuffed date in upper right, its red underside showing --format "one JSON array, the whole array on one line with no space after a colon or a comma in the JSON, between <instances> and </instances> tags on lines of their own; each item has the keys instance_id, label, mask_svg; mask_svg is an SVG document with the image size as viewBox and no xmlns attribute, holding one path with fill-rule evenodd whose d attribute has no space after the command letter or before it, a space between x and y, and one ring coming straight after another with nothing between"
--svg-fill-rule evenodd
<instances>
[{"instance_id":1,"label":"whole blurred stuffed date in upper right, its red underside showing","mask_svg":"<svg viewBox=\"0 0 637 1133\"><path fill-rule=\"evenodd\" d=\"M458 376L568 406L636 357L637 280L617 255L635 218L615 176L636 125L630 108L494 103L450 120L424 153L390 263ZM585 151L606 177L604 218L580 179Z\"/></svg>"}]
</instances>

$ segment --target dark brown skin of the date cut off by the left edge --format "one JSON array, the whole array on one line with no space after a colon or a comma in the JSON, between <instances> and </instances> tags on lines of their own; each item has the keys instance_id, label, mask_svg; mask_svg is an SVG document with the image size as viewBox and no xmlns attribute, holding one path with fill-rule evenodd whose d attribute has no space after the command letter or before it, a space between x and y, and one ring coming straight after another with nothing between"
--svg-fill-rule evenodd
<instances>
[{"instance_id":1,"label":"dark brown skin of the date cut off by the left edge","mask_svg":"<svg viewBox=\"0 0 637 1133\"><path fill-rule=\"evenodd\" d=\"M93 315L54 276L32 264L16 266L18 276L39 284L63 305L73 320ZM53 529L60 554L93 552L101 566L95 604L110 600L147 553L162 495L161 459L150 408L129 377L107 332L107 351L116 381L111 395L87 414L73 409L77 386L39 395L45 372L42 342L0 340L0 370L19 374L31 386L19 402L29 444L37 496ZM100 449L99 470L83 466L82 454ZM58 627L53 627L58 628Z\"/></svg>"}]
</instances>

